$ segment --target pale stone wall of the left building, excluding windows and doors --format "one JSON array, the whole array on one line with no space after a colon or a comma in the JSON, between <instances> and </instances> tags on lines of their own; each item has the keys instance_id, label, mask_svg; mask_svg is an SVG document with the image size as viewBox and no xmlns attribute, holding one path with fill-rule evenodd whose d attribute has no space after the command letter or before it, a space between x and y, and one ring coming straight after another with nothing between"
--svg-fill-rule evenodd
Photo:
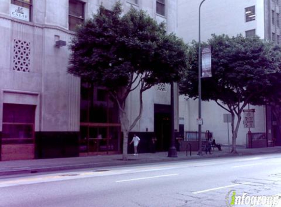
<instances>
[{"instance_id":1,"label":"pale stone wall of the left building, excluding windows and doors","mask_svg":"<svg viewBox=\"0 0 281 207\"><path fill-rule=\"evenodd\" d=\"M110 9L117 0L81 1L85 3L84 15L87 19L97 11L101 3ZM166 0L165 16L156 14L156 0L138 0L138 4L132 4L127 0L121 2L124 11L130 6L146 10L158 22L164 21L168 32L177 31L177 1ZM70 54L68 45L74 34L68 30L69 0L32 1L30 21L12 17L11 8L11 0L0 0L0 37L2 37L0 131L2 131L3 103L35 105L35 157L44 157L41 149L44 146L40 141L42 137L47 140L62 138L61 140L64 141L72 137L71 148L77 151L80 128L80 79L67 73ZM55 47L57 40L66 41L66 47ZM17 50L19 50L19 57L15 60ZM21 59L23 56L20 52L24 52L25 60ZM22 71L16 71L15 65L20 67L21 61L27 61L28 66ZM177 87L175 88L177 92ZM127 104L131 120L138 112L137 103L137 93L132 93L128 97ZM144 93L143 116L134 131L154 131L154 104L170 104L169 85L166 85L165 91L158 91L155 86ZM175 105L178 109L178 98L175 99ZM178 110L175 111L175 120L178 120ZM178 126L178 122L175 122L175 125ZM41 143L39 148L38 143ZM49 143L49 147L55 148L54 143L56 141ZM65 156L77 155L77 152L65 154Z\"/></svg>"}]
</instances>

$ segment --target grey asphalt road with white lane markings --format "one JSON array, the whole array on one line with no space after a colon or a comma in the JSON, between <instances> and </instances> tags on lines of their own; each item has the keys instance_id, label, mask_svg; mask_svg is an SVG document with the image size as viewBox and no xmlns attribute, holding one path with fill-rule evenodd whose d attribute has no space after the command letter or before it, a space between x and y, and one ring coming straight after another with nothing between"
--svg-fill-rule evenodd
<instances>
[{"instance_id":1,"label":"grey asphalt road with white lane markings","mask_svg":"<svg viewBox=\"0 0 281 207\"><path fill-rule=\"evenodd\" d=\"M245 205L232 206L277 196L281 207L280 164L274 154L1 177L0 207L227 207L234 190Z\"/></svg>"}]
</instances>

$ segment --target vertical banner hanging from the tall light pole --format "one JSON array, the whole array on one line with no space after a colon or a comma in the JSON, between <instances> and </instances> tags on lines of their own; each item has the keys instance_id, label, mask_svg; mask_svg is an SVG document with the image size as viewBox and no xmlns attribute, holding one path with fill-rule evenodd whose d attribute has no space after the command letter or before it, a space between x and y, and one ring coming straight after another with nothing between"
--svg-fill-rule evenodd
<instances>
[{"instance_id":1,"label":"vertical banner hanging from the tall light pole","mask_svg":"<svg viewBox=\"0 0 281 207\"><path fill-rule=\"evenodd\" d=\"M202 48L202 78L212 77L211 46Z\"/></svg>"}]
</instances>

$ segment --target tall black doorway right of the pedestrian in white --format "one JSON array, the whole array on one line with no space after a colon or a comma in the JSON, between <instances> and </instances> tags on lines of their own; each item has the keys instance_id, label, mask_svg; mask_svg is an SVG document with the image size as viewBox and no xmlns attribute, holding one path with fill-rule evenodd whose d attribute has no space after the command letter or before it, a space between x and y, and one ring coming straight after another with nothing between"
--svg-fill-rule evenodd
<instances>
[{"instance_id":1,"label":"tall black doorway right of the pedestrian in white","mask_svg":"<svg viewBox=\"0 0 281 207\"><path fill-rule=\"evenodd\" d=\"M171 136L170 105L154 104L154 132L156 151L168 151Z\"/></svg>"}]
</instances>

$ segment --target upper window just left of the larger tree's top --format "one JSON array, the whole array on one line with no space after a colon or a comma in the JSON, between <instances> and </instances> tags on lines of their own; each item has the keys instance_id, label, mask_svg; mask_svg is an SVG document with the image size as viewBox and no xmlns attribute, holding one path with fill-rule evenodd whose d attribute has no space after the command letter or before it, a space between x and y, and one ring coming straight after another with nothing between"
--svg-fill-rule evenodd
<instances>
[{"instance_id":1,"label":"upper window just left of the larger tree's top","mask_svg":"<svg viewBox=\"0 0 281 207\"><path fill-rule=\"evenodd\" d=\"M74 31L77 25L84 22L84 2L78 0L69 0L69 18L68 28Z\"/></svg>"}]
</instances>

